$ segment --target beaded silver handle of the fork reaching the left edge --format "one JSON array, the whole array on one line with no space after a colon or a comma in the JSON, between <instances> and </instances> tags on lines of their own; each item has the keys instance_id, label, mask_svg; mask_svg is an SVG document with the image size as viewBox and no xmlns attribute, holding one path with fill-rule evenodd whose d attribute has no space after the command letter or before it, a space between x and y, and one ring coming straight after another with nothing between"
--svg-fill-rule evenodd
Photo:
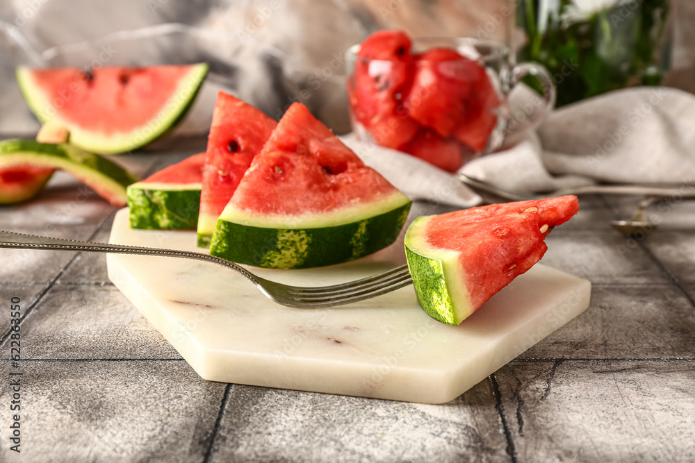
<instances>
[{"instance_id":1,"label":"beaded silver handle of the fork reaching the left edge","mask_svg":"<svg viewBox=\"0 0 695 463\"><path fill-rule=\"evenodd\" d=\"M193 251L178 251L174 249L145 248L141 246L125 246L123 244L96 243L90 241L78 241L76 239L51 238L47 236L26 235L0 230L0 248L11 249L49 249L53 251L84 251L92 253L114 253L114 254L138 254L138 255L159 255L163 257L184 258L195 260L207 260L214 264L222 265L232 270L236 270L243 276L259 285L258 277L247 272L243 267L238 266L229 260L215 257L204 253Z\"/></svg>"}]
</instances>

